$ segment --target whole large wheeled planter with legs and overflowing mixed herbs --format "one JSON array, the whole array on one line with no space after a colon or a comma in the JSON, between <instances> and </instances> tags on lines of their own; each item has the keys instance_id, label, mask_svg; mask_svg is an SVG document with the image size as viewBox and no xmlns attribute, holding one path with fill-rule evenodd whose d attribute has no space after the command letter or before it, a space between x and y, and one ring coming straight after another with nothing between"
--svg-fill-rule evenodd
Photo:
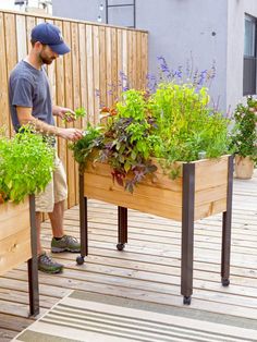
<instances>
[{"instance_id":1,"label":"whole large wheeled planter with legs and overflowing mixed herbs","mask_svg":"<svg viewBox=\"0 0 257 342\"><path fill-rule=\"evenodd\" d=\"M102 109L105 125L88 125L84 138L71 146L82 174L82 241L87 230L87 197L119 207L118 249L127 242L126 208L182 221L185 304L192 294L196 219L227 212L221 276L222 284L229 284L230 121L208 106L207 88L197 89L192 84L161 83L154 94L130 89L114 108ZM87 246L82 258L86 254Z\"/></svg>"}]
</instances>

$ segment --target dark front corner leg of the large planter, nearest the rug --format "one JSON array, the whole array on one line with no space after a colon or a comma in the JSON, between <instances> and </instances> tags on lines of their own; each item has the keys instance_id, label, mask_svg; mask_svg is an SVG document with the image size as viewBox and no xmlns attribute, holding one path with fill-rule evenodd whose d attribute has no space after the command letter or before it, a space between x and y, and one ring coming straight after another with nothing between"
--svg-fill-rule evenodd
<instances>
[{"instance_id":1,"label":"dark front corner leg of the large planter, nearest the rug","mask_svg":"<svg viewBox=\"0 0 257 342\"><path fill-rule=\"evenodd\" d=\"M193 294L195 164L183 164L181 294L189 305Z\"/></svg>"}]
</instances>

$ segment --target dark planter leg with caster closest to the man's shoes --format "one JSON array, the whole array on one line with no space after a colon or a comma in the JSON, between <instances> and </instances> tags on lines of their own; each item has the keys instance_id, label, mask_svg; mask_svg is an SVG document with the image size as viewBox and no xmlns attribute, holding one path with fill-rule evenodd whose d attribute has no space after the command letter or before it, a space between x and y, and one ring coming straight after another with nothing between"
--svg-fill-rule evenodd
<instances>
[{"instance_id":1,"label":"dark planter leg with caster closest to the man's shoes","mask_svg":"<svg viewBox=\"0 0 257 342\"><path fill-rule=\"evenodd\" d=\"M87 197L84 196L84 174L79 174L79 224L81 224L81 256L76 258L77 265L84 264L88 254L87 239Z\"/></svg>"}]
</instances>

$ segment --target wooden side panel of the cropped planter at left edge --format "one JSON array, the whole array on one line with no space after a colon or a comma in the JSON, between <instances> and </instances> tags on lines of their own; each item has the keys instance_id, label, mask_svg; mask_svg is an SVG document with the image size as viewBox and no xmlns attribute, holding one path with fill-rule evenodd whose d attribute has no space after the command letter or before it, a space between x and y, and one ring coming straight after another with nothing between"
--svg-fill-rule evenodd
<instances>
[{"instance_id":1,"label":"wooden side panel of the cropped planter at left edge","mask_svg":"<svg viewBox=\"0 0 257 342\"><path fill-rule=\"evenodd\" d=\"M0 205L0 276L32 258L29 199Z\"/></svg>"}]
</instances>

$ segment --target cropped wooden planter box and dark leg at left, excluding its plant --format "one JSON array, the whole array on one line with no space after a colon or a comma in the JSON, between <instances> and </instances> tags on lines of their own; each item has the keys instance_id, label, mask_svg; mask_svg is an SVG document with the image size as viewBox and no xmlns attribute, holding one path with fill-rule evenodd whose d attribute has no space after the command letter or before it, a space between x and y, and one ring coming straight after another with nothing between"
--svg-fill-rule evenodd
<instances>
[{"instance_id":1,"label":"cropped wooden planter box and dark leg at left, excluding its plant","mask_svg":"<svg viewBox=\"0 0 257 342\"><path fill-rule=\"evenodd\" d=\"M39 313L38 270L34 196L15 205L0 204L0 276L28 264L28 290L30 315Z\"/></svg>"}]
</instances>

